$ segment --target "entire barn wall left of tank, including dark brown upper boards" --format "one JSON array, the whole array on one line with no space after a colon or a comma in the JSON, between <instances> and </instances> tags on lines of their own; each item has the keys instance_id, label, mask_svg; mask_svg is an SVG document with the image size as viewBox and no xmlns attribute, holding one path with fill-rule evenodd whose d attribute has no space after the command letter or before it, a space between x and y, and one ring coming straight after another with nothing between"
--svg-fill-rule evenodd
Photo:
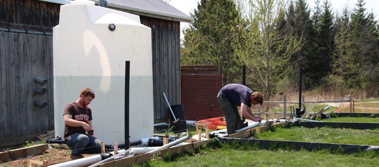
<instances>
[{"instance_id":1,"label":"entire barn wall left of tank, including dark brown upper boards","mask_svg":"<svg viewBox=\"0 0 379 167\"><path fill-rule=\"evenodd\" d=\"M54 130L53 27L60 5L37 0L0 1L0 147L35 141ZM46 86L34 81L39 76ZM45 88L45 96L35 94ZM34 105L48 103L43 110Z\"/></svg>"}]
</instances>

